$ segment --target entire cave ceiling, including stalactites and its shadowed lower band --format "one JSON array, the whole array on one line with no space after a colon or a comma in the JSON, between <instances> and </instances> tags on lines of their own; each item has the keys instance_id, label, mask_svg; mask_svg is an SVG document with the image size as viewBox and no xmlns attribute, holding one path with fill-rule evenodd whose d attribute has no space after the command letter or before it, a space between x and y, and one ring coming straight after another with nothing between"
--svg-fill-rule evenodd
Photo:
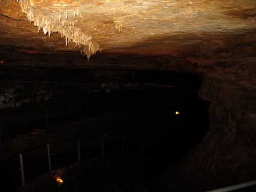
<instances>
[{"instance_id":1,"label":"entire cave ceiling, including stalactites and its shadowed lower band","mask_svg":"<svg viewBox=\"0 0 256 192\"><path fill-rule=\"evenodd\" d=\"M254 0L0 0L0 63L178 66L255 78L255 27Z\"/></svg>"}]
</instances>

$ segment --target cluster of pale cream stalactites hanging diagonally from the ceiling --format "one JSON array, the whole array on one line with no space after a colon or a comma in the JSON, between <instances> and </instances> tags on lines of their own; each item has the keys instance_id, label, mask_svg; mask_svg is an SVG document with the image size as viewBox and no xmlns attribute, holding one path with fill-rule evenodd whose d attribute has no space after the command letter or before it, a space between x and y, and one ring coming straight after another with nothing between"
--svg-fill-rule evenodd
<instances>
[{"instance_id":1,"label":"cluster of pale cream stalactites hanging diagonally from the ceiling","mask_svg":"<svg viewBox=\"0 0 256 192\"><path fill-rule=\"evenodd\" d=\"M81 32L79 28L75 27L74 22L68 21L68 12L59 12L54 16L45 16L39 9L34 8L29 4L28 0L14 0L19 2L22 12L27 14L29 22L33 22L37 26L38 32L42 31L45 35L51 36L53 32L60 33L62 38L66 38L66 46L70 42L75 42L82 55L87 56L88 59L99 51L99 44L92 41L92 37ZM78 11L73 11L74 16L78 16ZM64 18L64 19L62 19Z\"/></svg>"}]
</instances>

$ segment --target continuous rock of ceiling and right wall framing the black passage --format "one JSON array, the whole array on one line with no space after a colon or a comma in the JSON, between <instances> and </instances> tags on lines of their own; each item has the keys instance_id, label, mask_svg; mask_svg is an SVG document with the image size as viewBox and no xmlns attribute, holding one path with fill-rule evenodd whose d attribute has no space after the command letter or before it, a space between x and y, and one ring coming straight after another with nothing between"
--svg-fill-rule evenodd
<instances>
[{"instance_id":1,"label":"continuous rock of ceiling and right wall framing the black passage","mask_svg":"<svg viewBox=\"0 0 256 192\"><path fill-rule=\"evenodd\" d=\"M28 15L22 13L22 3L33 8L30 12L23 7ZM200 183L202 190L253 179L255 1L74 2L83 9L72 4L64 0L19 3L0 0L0 65L198 73L203 81L199 95L210 102L211 129L202 143L184 158L183 168L176 172L172 168L169 173L180 173L182 180L191 181L192 185ZM26 16L32 22L37 20L34 25L39 28L29 24ZM44 22L38 22L42 18ZM58 31L52 28L52 21L57 26L64 24L59 30L61 35L53 33L49 37L37 32L40 28L45 33ZM102 53L89 61L80 56L79 46L72 43L77 41L72 30L70 34L62 31L69 27L86 35ZM61 36L68 38L67 47ZM177 181L177 174L174 176ZM168 183L175 188L170 179Z\"/></svg>"}]
</instances>

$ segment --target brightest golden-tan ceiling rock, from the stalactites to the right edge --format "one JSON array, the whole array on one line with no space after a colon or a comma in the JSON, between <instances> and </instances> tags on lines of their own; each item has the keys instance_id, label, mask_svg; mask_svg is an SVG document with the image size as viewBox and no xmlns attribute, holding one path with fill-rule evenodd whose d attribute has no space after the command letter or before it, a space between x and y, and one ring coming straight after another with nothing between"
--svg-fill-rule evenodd
<instances>
[{"instance_id":1,"label":"brightest golden-tan ceiling rock, from the stalactites to the right edge","mask_svg":"<svg viewBox=\"0 0 256 192\"><path fill-rule=\"evenodd\" d=\"M59 32L90 57L176 33L235 32L255 27L253 1L27 1L22 12L45 34ZM234 9L237 8L237 9Z\"/></svg>"}]
</instances>

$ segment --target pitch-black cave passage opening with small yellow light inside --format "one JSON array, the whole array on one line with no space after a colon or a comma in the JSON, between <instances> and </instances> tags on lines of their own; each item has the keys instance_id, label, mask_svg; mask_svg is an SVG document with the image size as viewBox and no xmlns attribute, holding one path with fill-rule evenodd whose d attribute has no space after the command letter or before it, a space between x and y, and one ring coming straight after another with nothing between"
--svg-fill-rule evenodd
<instances>
[{"instance_id":1,"label":"pitch-black cave passage opening with small yellow light inside","mask_svg":"<svg viewBox=\"0 0 256 192\"><path fill-rule=\"evenodd\" d=\"M105 143L103 160L108 168L99 170L99 166L103 166L99 163L95 165L96 172L102 177L103 170L109 170L110 175L112 172L115 174L117 169L120 172L124 167L127 168L128 162L132 171L118 172L125 181L114 183L106 179L104 182L115 186L120 185L120 182L126 182L126 185L133 183L131 184L134 186L133 190L136 187L138 189L143 183L145 185L143 187L150 190L156 187L160 174L168 166L178 163L196 144L200 143L209 129L208 103L198 98L200 78L197 75L166 71L112 70L111 76L103 77L102 74L105 73L102 73L102 70L100 73L91 70L93 74L91 79L85 81L81 75L77 77L77 84L69 84L74 72L65 71L65 73L67 79L66 81L62 79L64 84L50 83L60 82L57 77L54 79L49 77L44 83L40 83L41 79L34 77L29 77L26 82L21 82L18 78L9 79L8 89L19 89L15 92L17 94L15 102L19 104L1 111L4 147L10 147L5 143L11 141L19 142L19 145L24 144L24 150L29 150L26 145L28 140L31 146L36 145L33 144L35 130L44 133L41 135L41 143L37 142L37 144L44 144L51 137L56 142L102 136L118 138L117 141ZM90 86L79 84L81 82L87 82ZM31 96L26 98L26 94L34 94L35 97L35 89L38 92L39 88L39 91L44 92L43 99L35 102L36 99ZM29 101L24 102L24 100ZM76 161L76 148L66 151L65 147L59 146L60 149L56 150L52 157L53 168ZM120 155L121 151L123 154L119 159L120 156L117 154ZM17 153L15 150L14 152ZM81 154L82 161L100 157L101 145L83 144ZM47 171L47 159L45 156L41 158L41 153L38 152L38 156L33 157L24 153L24 156L27 180L32 180ZM14 162L17 163L17 159L10 164ZM18 186L20 181L18 178L20 174L16 169L18 165L13 167L15 167L13 172L16 170L16 174L10 174L12 172L9 170L9 177L3 180L12 181ZM88 173L93 173L93 170ZM129 177L124 177L124 174L128 174ZM134 174L138 174L138 177L133 177ZM95 176L98 178L96 179L98 183L101 182L99 175ZM103 184L100 187L103 187ZM125 188L124 185L122 187ZM92 190L90 187L87 189ZM123 191L126 190L128 190L127 186ZM108 190L105 188L105 191Z\"/></svg>"}]
</instances>

